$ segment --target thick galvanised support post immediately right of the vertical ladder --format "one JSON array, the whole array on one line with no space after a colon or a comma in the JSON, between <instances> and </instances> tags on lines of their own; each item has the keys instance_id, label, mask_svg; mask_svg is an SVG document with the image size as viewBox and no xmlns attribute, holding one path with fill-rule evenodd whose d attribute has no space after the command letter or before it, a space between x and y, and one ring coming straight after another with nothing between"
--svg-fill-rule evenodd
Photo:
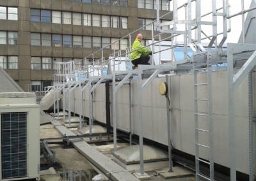
<instances>
[{"instance_id":1,"label":"thick galvanised support post immediately right of the vertical ladder","mask_svg":"<svg viewBox=\"0 0 256 181\"><path fill-rule=\"evenodd\" d=\"M230 180L236 180L236 140L234 124L234 84L233 84L233 47L228 46L228 124L229 124L229 152L230 152Z\"/></svg>"}]
</instances>

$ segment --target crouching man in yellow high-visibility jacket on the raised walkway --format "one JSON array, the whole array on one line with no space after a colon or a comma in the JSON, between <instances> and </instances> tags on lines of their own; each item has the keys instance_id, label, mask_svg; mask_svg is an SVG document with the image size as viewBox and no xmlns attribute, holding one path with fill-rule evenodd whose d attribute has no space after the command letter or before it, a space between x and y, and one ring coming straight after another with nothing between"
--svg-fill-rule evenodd
<instances>
[{"instance_id":1,"label":"crouching man in yellow high-visibility jacket on the raised walkway","mask_svg":"<svg viewBox=\"0 0 256 181\"><path fill-rule=\"evenodd\" d=\"M134 65L132 66L132 69L138 68L138 64L149 65L149 55L152 55L152 52L149 48L145 48L142 45L142 38L142 34L139 33L137 34L134 42L132 43L132 52L130 54L131 62Z\"/></svg>"}]
</instances>

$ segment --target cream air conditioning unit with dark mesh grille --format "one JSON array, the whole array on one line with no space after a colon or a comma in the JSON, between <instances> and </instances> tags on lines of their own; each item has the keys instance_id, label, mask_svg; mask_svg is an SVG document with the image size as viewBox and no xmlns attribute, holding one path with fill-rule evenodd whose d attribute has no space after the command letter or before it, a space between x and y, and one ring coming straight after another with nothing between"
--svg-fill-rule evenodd
<instances>
[{"instance_id":1,"label":"cream air conditioning unit with dark mesh grille","mask_svg":"<svg viewBox=\"0 0 256 181\"><path fill-rule=\"evenodd\" d=\"M0 93L1 180L39 180L40 108L31 92Z\"/></svg>"}]
</instances>

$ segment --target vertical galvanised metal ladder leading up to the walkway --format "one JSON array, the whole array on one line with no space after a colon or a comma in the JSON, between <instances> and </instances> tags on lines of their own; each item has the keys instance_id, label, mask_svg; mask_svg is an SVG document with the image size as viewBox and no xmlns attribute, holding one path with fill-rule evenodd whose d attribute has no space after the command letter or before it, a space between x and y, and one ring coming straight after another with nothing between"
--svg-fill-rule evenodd
<instances>
[{"instance_id":1,"label":"vertical galvanised metal ladder leading up to the walkway","mask_svg":"<svg viewBox=\"0 0 256 181\"><path fill-rule=\"evenodd\" d=\"M202 58L196 57L207 55L206 65L202 66ZM197 62L197 60L200 60ZM212 75L211 75L211 54L202 52L195 55L193 61L193 80L194 80L194 103L195 103L195 167L196 180L214 180L214 155L213 155L213 135L212 135ZM207 74L205 82L198 82L198 75L204 71ZM204 96L205 94L205 96ZM205 110L206 108L206 110ZM204 139L206 138L206 139ZM203 154L207 154L209 161L203 159ZM209 167L203 173L200 166Z\"/></svg>"}]
</instances>

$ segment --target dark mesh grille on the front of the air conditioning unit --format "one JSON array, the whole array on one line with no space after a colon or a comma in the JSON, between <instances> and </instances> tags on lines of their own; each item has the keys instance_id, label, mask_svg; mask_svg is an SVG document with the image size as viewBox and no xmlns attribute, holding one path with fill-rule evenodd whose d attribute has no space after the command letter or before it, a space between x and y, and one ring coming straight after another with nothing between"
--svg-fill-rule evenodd
<instances>
[{"instance_id":1,"label":"dark mesh grille on the front of the air conditioning unit","mask_svg":"<svg viewBox=\"0 0 256 181\"><path fill-rule=\"evenodd\" d=\"M27 177L27 113L1 113L2 178Z\"/></svg>"}]
</instances>

